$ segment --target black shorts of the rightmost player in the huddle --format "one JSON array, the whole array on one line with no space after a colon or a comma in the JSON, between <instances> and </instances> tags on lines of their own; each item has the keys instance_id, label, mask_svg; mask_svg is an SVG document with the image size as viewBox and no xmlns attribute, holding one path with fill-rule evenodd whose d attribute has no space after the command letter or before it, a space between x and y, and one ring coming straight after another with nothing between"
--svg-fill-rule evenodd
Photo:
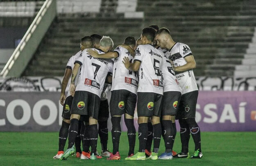
<instances>
[{"instance_id":1,"label":"black shorts of the rightmost player in the huddle","mask_svg":"<svg viewBox=\"0 0 256 166\"><path fill-rule=\"evenodd\" d=\"M189 117L195 117L195 111L197 106L198 91L192 91L181 95L179 102L179 109L176 119L184 119Z\"/></svg>"}]
</instances>

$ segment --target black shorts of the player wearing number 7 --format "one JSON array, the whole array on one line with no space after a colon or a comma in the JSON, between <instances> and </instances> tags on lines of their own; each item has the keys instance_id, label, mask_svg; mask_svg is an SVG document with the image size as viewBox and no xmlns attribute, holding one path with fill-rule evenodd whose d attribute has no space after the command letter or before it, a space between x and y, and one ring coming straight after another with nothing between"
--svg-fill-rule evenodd
<instances>
[{"instance_id":1,"label":"black shorts of the player wearing number 7","mask_svg":"<svg viewBox=\"0 0 256 166\"><path fill-rule=\"evenodd\" d=\"M88 91L75 91L70 114L88 115L97 120L99 109L99 96Z\"/></svg>"}]
</instances>

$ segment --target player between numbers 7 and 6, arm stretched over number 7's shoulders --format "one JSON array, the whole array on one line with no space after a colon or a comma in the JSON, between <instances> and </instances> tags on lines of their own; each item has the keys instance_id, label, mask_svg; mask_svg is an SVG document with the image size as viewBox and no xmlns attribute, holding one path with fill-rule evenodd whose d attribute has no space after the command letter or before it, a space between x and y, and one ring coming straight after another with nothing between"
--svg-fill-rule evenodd
<instances>
[{"instance_id":1,"label":"player between numbers 7 and 6, arm stretched over number 7's shoulders","mask_svg":"<svg viewBox=\"0 0 256 166\"><path fill-rule=\"evenodd\" d=\"M87 52L95 58L115 58L114 71L111 88L110 113L112 122L112 141L113 153L108 160L120 159L119 140L121 135L121 116L125 113L125 125L127 126L127 135L129 142L128 157L134 155L134 146L136 140L136 130L134 127L134 110L137 102L138 78L135 72L129 71L122 64L122 58L128 57L129 61L133 60L130 52L136 49L136 42L133 37L125 38L124 45L118 46L113 52L98 54L97 51L91 49ZM132 49L133 51L129 51Z\"/></svg>"}]
</instances>

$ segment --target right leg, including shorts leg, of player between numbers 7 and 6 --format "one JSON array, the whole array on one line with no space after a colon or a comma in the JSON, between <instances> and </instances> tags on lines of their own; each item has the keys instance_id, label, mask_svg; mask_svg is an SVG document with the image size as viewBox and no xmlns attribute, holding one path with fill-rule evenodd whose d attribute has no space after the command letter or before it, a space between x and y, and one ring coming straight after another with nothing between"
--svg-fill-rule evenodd
<instances>
[{"instance_id":1,"label":"right leg, including shorts leg, of player between numbers 7 and 6","mask_svg":"<svg viewBox=\"0 0 256 166\"><path fill-rule=\"evenodd\" d=\"M134 146L136 142L136 129L134 126L134 110L136 107L137 95L128 92L125 103L125 125L127 127L127 137L129 142L128 157L134 155Z\"/></svg>"}]
</instances>

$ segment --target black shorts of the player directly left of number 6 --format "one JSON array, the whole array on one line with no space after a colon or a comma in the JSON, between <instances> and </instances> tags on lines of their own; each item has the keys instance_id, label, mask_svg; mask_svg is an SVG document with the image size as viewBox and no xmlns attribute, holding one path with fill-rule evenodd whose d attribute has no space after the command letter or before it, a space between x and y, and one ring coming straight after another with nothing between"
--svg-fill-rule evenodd
<instances>
[{"instance_id":1,"label":"black shorts of the player directly left of number 6","mask_svg":"<svg viewBox=\"0 0 256 166\"><path fill-rule=\"evenodd\" d=\"M127 113L134 116L137 95L125 89L111 91L110 114L111 116Z\"/></svg>"}]
</instances>

